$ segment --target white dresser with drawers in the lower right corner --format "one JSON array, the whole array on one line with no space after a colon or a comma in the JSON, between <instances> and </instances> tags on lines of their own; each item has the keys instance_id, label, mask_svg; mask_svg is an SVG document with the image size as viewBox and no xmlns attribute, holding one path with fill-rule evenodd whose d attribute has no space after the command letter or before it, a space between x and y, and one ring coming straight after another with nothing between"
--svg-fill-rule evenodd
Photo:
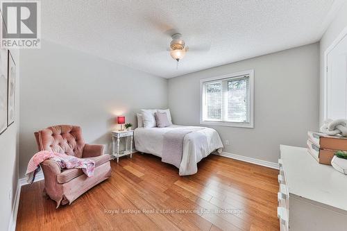
<instances>
[{"instance_id":1,"label":"white dresser with drawers in the lower right corner","mask_svg":"<svg viewBox=\"0 0 347 231\"><path fill-rule=\"evenodd\" d=\"M307 148L281 145L278 164L280 230L347 230L347 176Z\"/></svg>"}]
</instances>

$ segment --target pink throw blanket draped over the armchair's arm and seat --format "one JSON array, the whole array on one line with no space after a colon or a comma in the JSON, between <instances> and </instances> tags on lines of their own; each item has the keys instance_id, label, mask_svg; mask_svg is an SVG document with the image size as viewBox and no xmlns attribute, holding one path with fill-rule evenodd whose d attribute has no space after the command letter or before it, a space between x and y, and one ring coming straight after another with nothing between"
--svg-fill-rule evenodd
<instances>
[{"instance_id":1,"label":"pink throw blanket draped over the armchair's arm and seat","mask_svg":"<svg viewBox=\"0 0 347 231\"><path fill-rule=\"evenodd\" d=\"M40 151L31 157L31 160L28 163L28 168L26 169L25 174L28 177L28 183L31 184L35 180L36 173L40 171L40 164L44 162L44 160L49 159L58 162L60 168L82 169L83 173L88 177L94 176L94 160L81 159L72 155L54 153L51 151Z\"/></svg>"}]
</instances>

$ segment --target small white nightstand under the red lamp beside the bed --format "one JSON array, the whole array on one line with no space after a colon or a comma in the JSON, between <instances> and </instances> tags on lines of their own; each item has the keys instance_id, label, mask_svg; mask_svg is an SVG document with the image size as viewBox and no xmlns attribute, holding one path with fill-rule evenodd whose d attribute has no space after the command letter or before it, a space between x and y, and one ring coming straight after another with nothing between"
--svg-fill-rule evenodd
<instances>
[{"instance_id":1,"label":"small white nightstand under the red lamp beside the bed","mask_svg":"<svg viewBox=\"0 0 347 231\"><path fill-rule=\"evenodd\" d=\"M136 150L133 149L134 131L133 130L113 130L111 134L112 134L112 157L114 159L117 158L117 163L119 162L119 157L122 157L124 155L130 155L130 157L133 157L133 153L136 152ZM130 149L128 149L129 137L130 137ZM121 138L125 139L126 141L126 150L124 151L119 151ZM115 147L116 142L117 142L117 147Z\"/></svg>"}]
</instances>

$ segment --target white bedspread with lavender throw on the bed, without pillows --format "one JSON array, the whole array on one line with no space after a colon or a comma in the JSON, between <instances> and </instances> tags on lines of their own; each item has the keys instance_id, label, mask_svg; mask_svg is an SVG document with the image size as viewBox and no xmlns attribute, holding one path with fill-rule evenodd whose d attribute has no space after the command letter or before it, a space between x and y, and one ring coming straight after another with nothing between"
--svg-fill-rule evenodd
<instances>
[{"instance_id":1,"label":"white bedspread with lavender throw on the bed, without pillows","mask_svg":"<svg viewBox=\"0 0 347 231\"><path fill-rule=\"evenodd\" d=\"M174 164L167 161L170 155L179 152L179 162L174 165L178 167L180 176L195 174L198 162L214 151L221 153L223 148L216 130L198 126L136 128L134 139L137 151L162 157L162 161L169 164Z\"/></svg>"}]
</instances>

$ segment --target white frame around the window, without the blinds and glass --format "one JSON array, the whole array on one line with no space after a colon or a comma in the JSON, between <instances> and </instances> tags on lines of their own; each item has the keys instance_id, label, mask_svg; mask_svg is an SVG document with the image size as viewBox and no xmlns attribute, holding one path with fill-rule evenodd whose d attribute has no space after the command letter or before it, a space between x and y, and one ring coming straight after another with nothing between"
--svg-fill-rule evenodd
<instances>
[{"instance_id":1,"label":"white frame around the window, without the blinds and glass","mask_svg":"<svg viewBox=\"0 0 347 231\"><path fill-rule=\"evenodd\" d=\"M204 121L203 120L203 103L205 99L204 83L213 81L223 81L230 78L244 78L244 76L249 76L249 121L248 122L228 122L228 121ZM222 76L214 76L210 78L203 78L200 80L200 124L212 125L212 126L229 126L237 128L254 128L254 70L239 71L232 74L226 74Z\"/></svg>"}]
</instances>

